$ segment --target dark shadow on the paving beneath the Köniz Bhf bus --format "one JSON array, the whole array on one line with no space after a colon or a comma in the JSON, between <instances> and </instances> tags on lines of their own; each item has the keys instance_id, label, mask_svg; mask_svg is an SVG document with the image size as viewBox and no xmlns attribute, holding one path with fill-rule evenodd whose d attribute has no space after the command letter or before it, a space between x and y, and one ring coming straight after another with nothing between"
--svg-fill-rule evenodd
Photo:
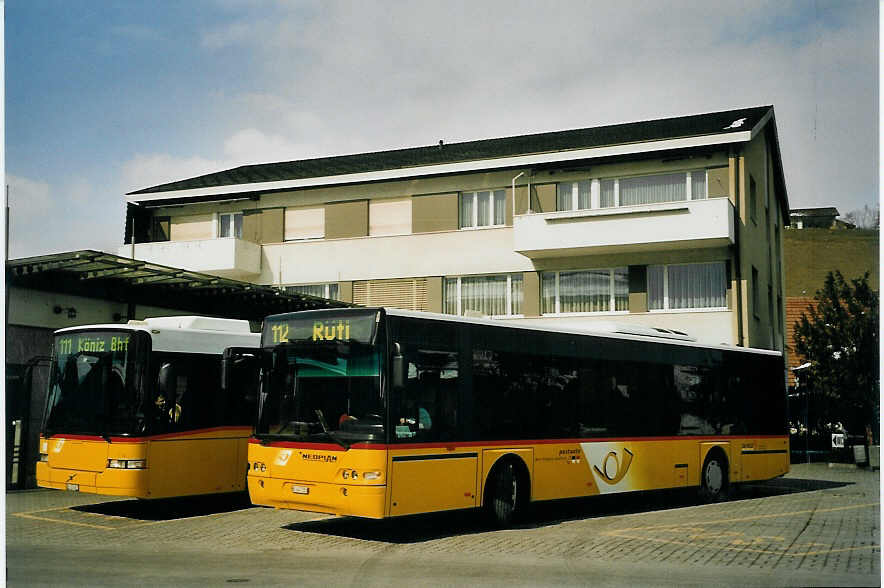
<instances>
[{"instance_id":1,"label":"dark shadow on the paving beneath the K\u00f6niz Bhf bus","mask_svg":"<svg viewBox=\"0 0 884 588\"><path fill-rule=\"evenodd\" d=\"M139 521L170 521L252 508L245 492L160 500L117 500L73 506L71 510Z\"/></svg>"}]
</instances>

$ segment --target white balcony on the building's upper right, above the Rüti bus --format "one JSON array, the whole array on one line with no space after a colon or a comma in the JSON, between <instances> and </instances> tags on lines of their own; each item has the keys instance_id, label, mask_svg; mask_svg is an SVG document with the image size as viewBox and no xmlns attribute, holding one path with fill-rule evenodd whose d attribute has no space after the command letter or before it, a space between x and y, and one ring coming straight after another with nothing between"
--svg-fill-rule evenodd
<instances>
[{"instance_id":1,"label":"white balcony on the building's upper right, above the R\u00fcti bus","mask_svg":"<svg viewBox=\"0 0 884 588\"><path fill-rule=\"evenodd\" d=\"M531 259L733 243L734 207L727 198L529 213L513 219L513 249Z\"/></svg>"}]
</instances>

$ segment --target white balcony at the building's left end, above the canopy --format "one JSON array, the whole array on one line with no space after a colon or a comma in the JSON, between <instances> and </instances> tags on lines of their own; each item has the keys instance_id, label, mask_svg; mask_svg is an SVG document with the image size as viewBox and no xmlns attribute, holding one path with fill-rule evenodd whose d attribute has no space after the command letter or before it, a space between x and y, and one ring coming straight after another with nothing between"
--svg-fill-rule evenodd
<instances>
[{"instance_id":1,"label":"white balcony at the building's left end, above the canopy","mask_svg":"<svg viewBox=\"0 0 884 588\"><path fill-rule=\"evenodd\" d=\"M132 246L120 247L119 255L132 256ZM242 239L138 243L135 259L235 280L261 273L261 246Z\"/></svg>"}]
</instances>

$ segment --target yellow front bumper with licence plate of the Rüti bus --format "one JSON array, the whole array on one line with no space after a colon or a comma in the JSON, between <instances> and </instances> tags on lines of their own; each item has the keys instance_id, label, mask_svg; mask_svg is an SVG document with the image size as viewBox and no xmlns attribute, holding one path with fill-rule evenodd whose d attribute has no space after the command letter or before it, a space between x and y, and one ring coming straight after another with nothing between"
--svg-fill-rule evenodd
<instances>
[{"instance_id":1,"label":"yellow front bumper with licence plate of the R\u00fcti bus","mask_svg":"<svg viewBox=\"0 0 884 588\"><path fill-rule=\"evenodd\" d=\"M384 517L385 485L305 482L249 475L253 504L372 519Z\"/></svg>"}]
</instances>

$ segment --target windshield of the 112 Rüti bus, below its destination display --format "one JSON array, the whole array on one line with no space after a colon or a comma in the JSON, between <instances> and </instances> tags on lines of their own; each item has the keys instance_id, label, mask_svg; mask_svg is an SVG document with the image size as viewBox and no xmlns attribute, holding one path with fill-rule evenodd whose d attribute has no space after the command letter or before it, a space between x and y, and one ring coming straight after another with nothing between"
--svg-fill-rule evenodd
<instances>
[{"instance_id":1,"label":"windshield of the 112 R\u00fcti bus, below its destination display","mask_svg":"<svg viewBox=\"0 0 884 588\"><path fill-rule=\"evenodd\" d=\"M285 343L269 351L259 437L338 443L384 441L380 351L351 342Z\"/></svg>"}]
</instances>

